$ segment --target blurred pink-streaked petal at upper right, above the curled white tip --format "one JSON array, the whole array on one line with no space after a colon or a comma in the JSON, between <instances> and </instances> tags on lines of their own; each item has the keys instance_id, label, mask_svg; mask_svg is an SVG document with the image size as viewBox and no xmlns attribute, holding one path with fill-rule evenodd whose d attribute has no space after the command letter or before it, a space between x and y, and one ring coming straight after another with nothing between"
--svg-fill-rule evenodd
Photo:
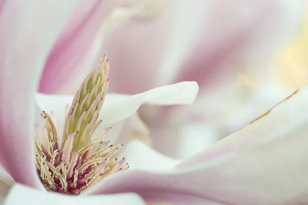
<instances>
[{"instance_id":1,"label":"blurred pink-streaked petal at upper right, above the curled white tip","mask_svg":"<svg viewBox=\"0 0 308 205\"><path fill-rule=\"evenodd\" d=\"M174 82L196 80L200 86L206 88L216 80L236 75L232 69L240 69L237 61L245 62L246 59L243 58L248 58L243 49L252 42L254 34L268 19L276 17L275 9L281 7L278 1L248 3L235 0L225 4L212 2L208 5L207 22L204 20L196 40L190 45L191 52L187 54ZM265 30L263 33L267 34ZM253 53L252 48L249 49ZM232 67L234 64L237 64L236 68Z\"/></svg>"}]
</instances>

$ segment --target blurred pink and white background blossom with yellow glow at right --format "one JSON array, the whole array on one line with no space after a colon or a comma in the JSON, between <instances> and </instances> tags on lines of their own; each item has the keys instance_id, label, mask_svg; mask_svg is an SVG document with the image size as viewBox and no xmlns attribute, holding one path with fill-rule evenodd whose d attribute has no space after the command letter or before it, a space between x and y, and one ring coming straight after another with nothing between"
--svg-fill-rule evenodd
<instances>
[{"instance_id":1,"label":"blurred pink and white background blossom with yellow glow at right","mask_svg":"<svg viewBox=\"0 0 308 205\"><path fill-rule=\"evenodd\" d=\"M304 0L130 0L101 20L94 45L110 59L110 92L198 82L192 106L139 110L151 145L184 158L307 84L307 12ZM72 94L89 69L56 93Z\"/></svg>"}]
</instances>

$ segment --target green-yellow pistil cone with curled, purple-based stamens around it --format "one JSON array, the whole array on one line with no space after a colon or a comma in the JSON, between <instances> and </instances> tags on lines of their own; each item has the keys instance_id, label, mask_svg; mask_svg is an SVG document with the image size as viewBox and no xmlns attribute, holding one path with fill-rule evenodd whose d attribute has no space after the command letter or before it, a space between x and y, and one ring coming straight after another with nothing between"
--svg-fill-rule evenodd
<instances>
[{"instance_id":1,"label":"green-yellow pistil cone with curled, purple-based stamens around it","mask_svg":"<svg viewBox=\"0 0 308 205\"><path fill-rule=\"evenodd\" d=\"M35 160L38 176L49 191L81 194L104 177L129 168L125 158L112 156L123 145L102 141L110 130L105 128L96 138L94 131L108 90L109 63L104 55L76 92L71 107L67 106L63 138L60 142L53 113L43 111L43 132L35 126Z\"/></svg>"}]
</instances>

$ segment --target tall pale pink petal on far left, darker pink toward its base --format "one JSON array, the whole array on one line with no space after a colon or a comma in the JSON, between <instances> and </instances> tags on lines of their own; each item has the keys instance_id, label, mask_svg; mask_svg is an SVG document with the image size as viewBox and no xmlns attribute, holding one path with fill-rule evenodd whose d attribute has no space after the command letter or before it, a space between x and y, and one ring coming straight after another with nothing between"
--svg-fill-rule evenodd
<instances>
[{"instance_id":1,"label":"tall pale pink petal on far left, darker pink toward its base","mask_svg":"<svg viewBox=\"0 0 308 205\"><path fill-rule=\"evenodd\" d=\"M31 134L41 69L74 1L5 1L0 15L0 163L17 182L40 187ZM60 9L61 8L61 9Z\"/></svg>"}]
</instances>

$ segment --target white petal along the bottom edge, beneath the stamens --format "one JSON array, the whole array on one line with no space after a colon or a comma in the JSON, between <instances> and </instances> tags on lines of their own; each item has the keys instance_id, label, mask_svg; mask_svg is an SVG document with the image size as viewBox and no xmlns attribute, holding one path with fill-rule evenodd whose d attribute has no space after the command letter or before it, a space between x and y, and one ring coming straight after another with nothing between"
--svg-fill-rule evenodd
<instances>
[{"instance_id":1,"label":"white petal along the bottom edge, beneath the stamens","mask_svg":"<svg viewBox=\"0 0 308 205\"><path fill-rule=\"evenodd\" d=\"M20 184L16 184L5 199L5 205L32 204L32 205L79 205L79 204L104 204L104 205L146 205L140 196L133 193L110 194L96 196L69 196L55 192L43 192Z\"/></svg>"}]
</instances>

